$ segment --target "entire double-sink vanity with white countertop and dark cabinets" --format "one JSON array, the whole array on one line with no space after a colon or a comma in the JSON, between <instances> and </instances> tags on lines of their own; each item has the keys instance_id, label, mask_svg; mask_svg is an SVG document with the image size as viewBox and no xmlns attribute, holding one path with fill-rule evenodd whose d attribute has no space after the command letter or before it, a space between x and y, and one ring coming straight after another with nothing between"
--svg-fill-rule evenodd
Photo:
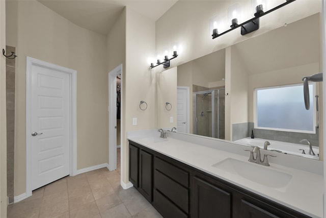
<instances>
[{"instance_id":1,"label":"entire double-sink vanity with white countertop and dark cabinets","mask_svg":"<svg viewBox=\"0 0 326 218\"><path fill-rule=\"evenodd\" d=\"M128 139L129 181L164 217L322 217L321 175L250 163L223 141Z\"/></svg>"}]
</instances>

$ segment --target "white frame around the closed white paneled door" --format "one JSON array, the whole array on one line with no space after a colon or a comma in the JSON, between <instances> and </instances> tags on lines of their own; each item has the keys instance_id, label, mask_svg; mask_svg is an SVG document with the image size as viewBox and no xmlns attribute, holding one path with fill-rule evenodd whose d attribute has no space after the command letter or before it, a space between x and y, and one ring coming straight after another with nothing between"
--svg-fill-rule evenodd
<instances>
[{"instance_id":1,"label":"white frame around the closed white paneled door","mask_svg":"<svg viewBox=\"0 0 326 218\"><path fill-rule=\"evenodd\" d=\"M31 94L32 66L40 66L57 70L69 75L70 78L70 176L77 175L77 119L76 119L76 70L51 64L35 58L26 57L26 198L32 196L32 163L31 163Z\"/></svg>"}]
</instances>

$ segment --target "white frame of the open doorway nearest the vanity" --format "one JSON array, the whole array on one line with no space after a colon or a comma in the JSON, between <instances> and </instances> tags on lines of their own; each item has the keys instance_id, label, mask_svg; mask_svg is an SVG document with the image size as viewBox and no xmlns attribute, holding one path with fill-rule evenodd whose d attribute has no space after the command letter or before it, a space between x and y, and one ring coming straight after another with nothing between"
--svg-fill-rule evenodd
<instances>
[{"instance_id":1,"label":"white frame of the open doorway nearest the vanity","mask_svg":"<svg viewBox=\"0 0 326 218\"><path fill-rule=\"evenodd\" d=\"M121 76L121 95L120 95L120 108L122 105L122 91L123 91L123 79L122 79L122 64L114 68L108 73L108 170L114 171L117 169L117 131L115 126L117 125L117 76ZM123 119L123 113L120 113L121 120ZM120 132L122 130L122 122L120 125ZM115 139L114 139L115 138ZM120 145L122 145L122 137L120 137ZM122 154L121 146L121 154Z\"/></svg>"}]
</instances>

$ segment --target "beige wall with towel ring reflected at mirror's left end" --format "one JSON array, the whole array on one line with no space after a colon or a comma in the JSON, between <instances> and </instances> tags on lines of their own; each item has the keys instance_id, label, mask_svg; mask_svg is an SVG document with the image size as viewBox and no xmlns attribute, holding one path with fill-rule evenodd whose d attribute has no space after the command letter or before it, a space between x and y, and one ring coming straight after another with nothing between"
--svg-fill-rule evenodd
<instances>
[{"instance_id":1,"label":"beige wall with towel ring reflected at mirror's left end","mask_svg":"<svg viewBox=\"0 0 326 218\"><path fill-rule=\"evenodd\" d=\"M177 127L177 67L157 74L157 128ZM171 103L167 108L166 102ZM173 117L173 123L170 123Z\"/></svg>"}]
</instances>

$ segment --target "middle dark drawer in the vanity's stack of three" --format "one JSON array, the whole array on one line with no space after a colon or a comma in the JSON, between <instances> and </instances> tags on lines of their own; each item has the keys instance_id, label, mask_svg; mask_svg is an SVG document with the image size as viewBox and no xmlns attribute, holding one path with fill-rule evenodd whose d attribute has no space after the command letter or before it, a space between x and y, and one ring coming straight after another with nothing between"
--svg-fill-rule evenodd
<instances>
[{"instance_id":1,"label":"middle dark drawer in the vanity's stack of three","mask_svg":"<svg viewBox=\"0 0 326 218\"><path fill-rule=\"evenodd\" d=\"M154 172L154 188L159 190L184 212L188 213L189 201L187 188L183 187L157 170Z\"/></svg>"}]
</instances>

